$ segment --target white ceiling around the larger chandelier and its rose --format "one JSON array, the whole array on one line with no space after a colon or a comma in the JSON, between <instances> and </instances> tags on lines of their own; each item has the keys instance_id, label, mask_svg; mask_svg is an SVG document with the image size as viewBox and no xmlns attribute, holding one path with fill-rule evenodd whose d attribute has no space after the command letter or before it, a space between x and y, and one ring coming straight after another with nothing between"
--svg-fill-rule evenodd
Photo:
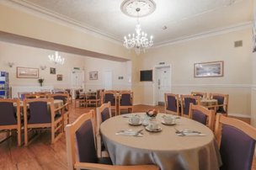
<instances>
[{"instance_id":1,"label":"white ceiling around the larger chandelier and its rose","mask_svg":"<svg viewBox=\"0 0 256 170\"><path fill-rule=\"evenodd\" d=\"M136 18L120 10L122 0L9 0L106 35L122 43ZM253 21L253 0L154 0L156 10L140 20L155 45ZM163 26L168 29L163 30Z\"/></svg>"}]
</instances>

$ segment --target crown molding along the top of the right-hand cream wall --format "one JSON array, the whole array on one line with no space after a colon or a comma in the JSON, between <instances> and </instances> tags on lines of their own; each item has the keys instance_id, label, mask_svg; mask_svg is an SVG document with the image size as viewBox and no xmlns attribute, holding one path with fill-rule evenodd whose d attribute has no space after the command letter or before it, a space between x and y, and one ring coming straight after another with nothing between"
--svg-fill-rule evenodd
<instances>
[{"instance_id":1,"label":"crown molding along the top of the right-hand cream wall","mask_svg":"<svg viewBox=\"0 0 256 170\"><path fill-rule=\"evenodd\" d=\"M179 37L178 39L163 41L163 42L160 42L160 43L157 43L156 45L154 45L153 48L157 48L157 47L165 46L165 45L174 45L174 44L184 43L184 42L188 42L190 40L199 40L199 39L216 36L216 35L223 35L223 34L237 31L237 30L252 28L252 26L253 26L253 21L250 21L250 22L245 22L245 23L240 23L240 24L234 24L234 25L227 26L227 27L211 29L209 31L202 32L200 34L183 36L183 37Z\"/></svg>"}]
</instances>

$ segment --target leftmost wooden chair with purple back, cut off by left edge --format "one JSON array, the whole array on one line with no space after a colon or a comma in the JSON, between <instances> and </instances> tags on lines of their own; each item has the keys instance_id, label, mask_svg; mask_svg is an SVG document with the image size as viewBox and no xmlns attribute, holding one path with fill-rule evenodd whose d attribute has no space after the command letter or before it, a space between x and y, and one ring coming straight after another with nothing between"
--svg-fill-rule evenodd
<instances>
[{"instance_id":1,"label":"leftmost wooden chair with purple back, cut off by left edge","mask_svg":"<svg viewBox=\"0 0 256 170\"><path fill-rule=\"evenodd\" d=\"M17 141L18 146L20 146L21 123L19 99L0 98L0 110L0 130L8 130L7 138L9 136L9 130L17 130Z\"/></svg>"}]
</instances>

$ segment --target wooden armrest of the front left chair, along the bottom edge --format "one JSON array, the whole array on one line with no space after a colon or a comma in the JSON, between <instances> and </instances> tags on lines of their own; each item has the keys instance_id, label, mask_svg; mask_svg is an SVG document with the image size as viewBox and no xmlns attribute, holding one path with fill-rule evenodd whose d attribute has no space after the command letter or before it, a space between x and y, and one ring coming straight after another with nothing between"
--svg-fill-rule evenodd
<instances>
[{"instance_id":1,"label":"wooden armrest of the front left chair, along the bottom edge","mask_svg":"<svg viewBox=\"0 0 256 170\"><path fill-rule=\"evenodd\" d=\"M132 165L132 166L113 166L98 163L84 163L77 162L74 165L75 168L85 168L93 170L158 170L160 169L156 165Z\"/></svg>"}]
</instances>

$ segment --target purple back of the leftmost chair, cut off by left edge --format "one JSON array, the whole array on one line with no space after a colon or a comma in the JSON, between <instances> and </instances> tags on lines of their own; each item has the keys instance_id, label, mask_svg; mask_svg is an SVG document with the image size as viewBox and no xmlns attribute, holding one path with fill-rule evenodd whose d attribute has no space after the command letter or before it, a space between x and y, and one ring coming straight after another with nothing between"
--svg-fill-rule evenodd
<instances>
[{"instance_id":1,"label":"purple back of the leftmost chair, cut off by left edge","mask_svg":"<svg viewBox=\"0 0 256 170\"><path fill-rule=\"evenodd\" d=\"M13 104L16 104L16 108ZM0 126L17 125L20 117L19 99L0 98Z\"/></svg>"}]
</instances>

